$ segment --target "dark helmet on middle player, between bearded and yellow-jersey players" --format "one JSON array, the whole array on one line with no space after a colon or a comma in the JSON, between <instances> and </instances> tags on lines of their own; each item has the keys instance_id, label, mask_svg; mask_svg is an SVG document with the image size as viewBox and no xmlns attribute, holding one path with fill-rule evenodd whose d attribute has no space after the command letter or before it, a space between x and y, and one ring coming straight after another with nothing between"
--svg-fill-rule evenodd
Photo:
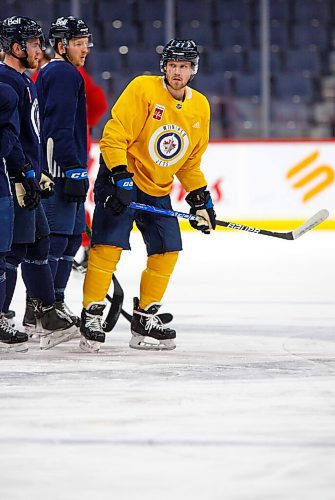
<instances>
[{"instance_id":1,"label":"dark helmet on middle player, between bearded and yellow-jersey players","mask_svg":"<svg viewBox=\"0 0 335 500\"><path fill-rule=\"evenodd\" d=\"M88 38L88 47L93 47L93 37L87 24L74 16L59 17L51 24L49 42L55 48L56 40L61 40L64 47L72 38Z\"/></svg>"}]
</instances>

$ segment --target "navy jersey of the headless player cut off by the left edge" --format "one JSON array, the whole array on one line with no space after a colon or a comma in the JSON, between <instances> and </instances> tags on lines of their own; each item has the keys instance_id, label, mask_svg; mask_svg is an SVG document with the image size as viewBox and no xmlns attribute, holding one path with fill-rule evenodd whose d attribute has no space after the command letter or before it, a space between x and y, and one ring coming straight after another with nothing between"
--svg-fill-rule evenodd
<instances>
[{"instance_id":1,"label":"navy jersey of the headless player cut off by the left edge","mask_svg":"<svg viewBox=\"0 0 335 500\"><path fill-rule=\"evenodd\" d=\"M19 97L15 90L0 82L0 197L11 194L5 158L15 157L15 169L25 165L25 157L19 142ZM14 171L10 172L14 174Z\"/></svg>"}]
</instances>

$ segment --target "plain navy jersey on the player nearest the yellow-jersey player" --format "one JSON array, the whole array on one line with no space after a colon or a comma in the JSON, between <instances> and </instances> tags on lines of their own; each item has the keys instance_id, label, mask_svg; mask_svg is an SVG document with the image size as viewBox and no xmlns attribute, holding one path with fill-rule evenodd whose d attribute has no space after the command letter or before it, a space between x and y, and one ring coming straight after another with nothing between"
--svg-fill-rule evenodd
<instances>
[{"instance_id":1,"label":"plain navy jersey on the player nearest the yellow-jersey player","mask_svg":"<svg viewBox=\"0 0 335 500\"><path fill-rule=\"evenodd\" d=\"M87 166L84 80L72 66L53 59L36 81L42 120L43 155L54 177L71 167Z\"/></svg>"}]
</instances>

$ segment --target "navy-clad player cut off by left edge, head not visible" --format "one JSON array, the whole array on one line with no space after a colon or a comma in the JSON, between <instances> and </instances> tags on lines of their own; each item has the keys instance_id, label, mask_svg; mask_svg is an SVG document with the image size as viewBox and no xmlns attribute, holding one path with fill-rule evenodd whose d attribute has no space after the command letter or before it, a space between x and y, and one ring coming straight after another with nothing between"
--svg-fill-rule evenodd
<instances>
[{"instance_id":1,"label":"navy-clad player cut off by left edge, head not visible","mask_svg":"<svg viewBox=\"0 0 335 500\"><path fill-rule=\"evenodd\" d=\"M18 95L7 84L0 82L0 351L26 351L28 336L12 328L2 313L6 296L6 253L10 250L14 226L14 202L5 158L13 151L16 169L24 169L25 159L19 142Z\"/></svg>"}]
</instances>

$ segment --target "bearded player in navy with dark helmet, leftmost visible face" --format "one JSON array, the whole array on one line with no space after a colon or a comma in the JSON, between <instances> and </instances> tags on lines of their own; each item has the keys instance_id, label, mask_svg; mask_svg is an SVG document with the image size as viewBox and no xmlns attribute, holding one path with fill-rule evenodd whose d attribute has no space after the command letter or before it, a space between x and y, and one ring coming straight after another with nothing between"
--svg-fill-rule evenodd
<instances>
[{"instance_id":1,"label":"bearded player in navy with dark helmet, leftmost visible face","mask_svg":"<svg viewBox=\"0 0 335 500\"><path fill-rule=\"evenodd\" d=\"M0 25L0 44L5 52L0 64L0 81L10 85L18 96L19 140L24 152L24 170L12 178L14 231L11 250L6 255L6 298L8 311L13 297L17 268L22 263L22 277L34 309L26 311L24 325L29 333L40 334L40 347L53 347L76 332L73 322L55 308L52 274L48 265L49 226L39 203L40 197L52 194L53 181L42 169L40 120L34 83L24 73L35 68L44 48L41 27L27 17L10 17ZM6 157L8 169L17 163L12 151ZM34 312L35 310L35 312ZM30 313L30 316L29 314Z\"/></svg>"}]
</instances>

